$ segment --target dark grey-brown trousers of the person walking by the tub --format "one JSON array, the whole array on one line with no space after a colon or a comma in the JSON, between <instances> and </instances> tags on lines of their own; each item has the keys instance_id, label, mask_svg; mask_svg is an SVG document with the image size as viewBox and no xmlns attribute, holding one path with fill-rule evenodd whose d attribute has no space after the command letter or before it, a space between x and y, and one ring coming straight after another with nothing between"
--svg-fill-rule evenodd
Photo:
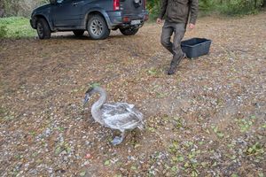
<instances>
[{"instance_id":1,"label":"dark grey-brown trousers of the person walking by the tub","mask_svg":"<svg viewBox=\"0 0 266 177\"><path fill-rule=\"evenodd\" d=\"M173 42L171 36L174 35ZM167 20L164 22L160 36L161 44L173 54L171 66L176 66L184 58L184 53L181 50L181 40L184 37L185 24L184 23L171 23Z\"/></svg>"}]
</instances>

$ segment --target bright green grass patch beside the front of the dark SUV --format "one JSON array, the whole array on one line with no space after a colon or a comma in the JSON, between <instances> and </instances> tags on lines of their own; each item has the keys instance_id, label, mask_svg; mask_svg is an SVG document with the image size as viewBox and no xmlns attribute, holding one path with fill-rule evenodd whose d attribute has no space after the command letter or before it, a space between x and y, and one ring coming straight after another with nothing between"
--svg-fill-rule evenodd
<instances>
[{"instance_id":1,"label":"bright green grass patch beside the front of the dark SUV","mask_svg":"<svg viewBox=\"0 0 266 177\"><path fill-rule=\"evenodd\" d=\"M36 35L30 26L29 19L23 17L9 17L0 19L0 38L25 38Z\"/></svg>"}]
</instances>

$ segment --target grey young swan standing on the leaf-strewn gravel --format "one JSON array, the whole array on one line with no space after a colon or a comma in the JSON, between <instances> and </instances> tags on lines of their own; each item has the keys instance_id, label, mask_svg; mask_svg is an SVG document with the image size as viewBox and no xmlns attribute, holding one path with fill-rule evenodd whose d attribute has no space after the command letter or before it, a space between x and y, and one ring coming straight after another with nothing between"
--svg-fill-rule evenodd
<instances>
[{"instance_id":1,"label":"grey young swan standing on the leaf-strewn gravel","mask_svg":"<svg viewBox=\"0 0 266 177\"><path fill-rule=\"evenodd\" d=\"M134 128L144 129L144 116L139 112L134 104L110 103L106 104L106 91L99 86L90 87L85 93L83 104L87 104L90 96L98 93L100 95L97 102L91 106L91 115L99 124L112 129L120 130L121 137L115 136L113 145L120 144L126 130Z\"/></svg>"}]
</instances>

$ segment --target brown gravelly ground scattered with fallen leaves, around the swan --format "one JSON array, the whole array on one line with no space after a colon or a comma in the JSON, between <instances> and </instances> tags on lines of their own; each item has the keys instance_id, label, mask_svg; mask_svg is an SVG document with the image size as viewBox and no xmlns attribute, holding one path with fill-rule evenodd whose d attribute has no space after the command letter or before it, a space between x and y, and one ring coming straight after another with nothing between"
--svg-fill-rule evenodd
<instances>
[{"instance_id":1,"label":"brown gravelly ground scattered with fallen leaves, around the swan","mask_svg":"<svg viewBox=\"0 0 266 177\"><path fill-rule=\"evenodd\" d=\"M265 19L199 19L184 39L211 39L210 53L171 76L156 24L0 41L0 176L265 176ZM113 146L119 132L91 118L98 96L82 105L95 82L135 104L145 130Z\"/></svg>"}]
</instances>

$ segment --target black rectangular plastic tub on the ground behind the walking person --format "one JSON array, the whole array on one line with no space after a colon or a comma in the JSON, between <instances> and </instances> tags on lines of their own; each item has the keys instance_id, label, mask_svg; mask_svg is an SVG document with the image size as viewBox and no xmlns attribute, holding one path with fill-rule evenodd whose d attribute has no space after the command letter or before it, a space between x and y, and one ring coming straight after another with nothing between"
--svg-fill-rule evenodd
<instances>
[{"instance_id":1,"label":"black rectangular plastic tub on the ground behind the walking person","mask_svg":"<svg viewBox=\"0 0 266 177\"><path fill-rule=\"evenodd\" d=\"M181 42L181 48L187 58L198 58L209 52L211 42L205 38L192 38Z\"/></svg>"}]
</instances>

